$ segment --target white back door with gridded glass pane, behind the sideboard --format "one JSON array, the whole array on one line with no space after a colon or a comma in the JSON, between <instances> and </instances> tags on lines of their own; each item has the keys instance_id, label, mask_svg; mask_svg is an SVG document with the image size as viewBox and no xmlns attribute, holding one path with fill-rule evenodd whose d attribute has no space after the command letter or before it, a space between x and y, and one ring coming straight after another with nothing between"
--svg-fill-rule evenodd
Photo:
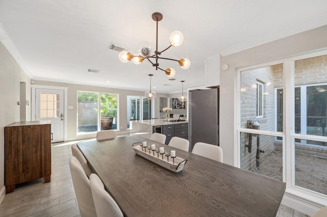
<instances>
[{"instance_id":1,"label":"white back door with gridded glass pane, behind the sideboard","mask_svg":"<svg viewBox=\"0 0 327 217\"><path fill-rule=\"evenodd\" d=\"M64 141L64 90L35 89L35 120L51 120L52 143Z\"/></svg>"}]
</instances>

